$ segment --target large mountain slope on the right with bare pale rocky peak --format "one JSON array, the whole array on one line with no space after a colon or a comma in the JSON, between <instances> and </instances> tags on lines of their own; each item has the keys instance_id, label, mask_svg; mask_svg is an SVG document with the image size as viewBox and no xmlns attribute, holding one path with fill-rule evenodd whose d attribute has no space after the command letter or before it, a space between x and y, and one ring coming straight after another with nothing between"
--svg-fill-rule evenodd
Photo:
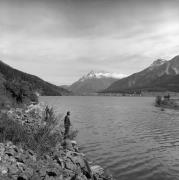
<instances>
[{"instance_id":1,"label":"large mountain slope on the right with bare pale rocky peak","mask_svg":"<svg viewBox=\"0 0 179 180\"><path fill-rule=\"evenodd\" d=\"M104 92L179 91L179 56L158 59L148 68L111 84Z\"/></svg>"}]
</instances>

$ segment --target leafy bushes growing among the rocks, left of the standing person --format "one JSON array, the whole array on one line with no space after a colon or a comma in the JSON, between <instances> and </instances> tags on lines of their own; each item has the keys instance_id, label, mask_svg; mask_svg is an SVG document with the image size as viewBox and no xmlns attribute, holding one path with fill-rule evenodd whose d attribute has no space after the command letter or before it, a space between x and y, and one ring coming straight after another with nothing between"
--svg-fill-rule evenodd
<instances>
[{"instance_id":1,"label":"leafy bushes growing among the rocks, left of the standing person","mask_svg":"<svg viewBox=\"0 0 179 180\"><path fill-rule=\"evenodd\" d=\"M5 113L1 114L0 142L12 141L15 145L20 144L39 155L50 153L63 140L62 132L60 129L54 131L58 119L48 106L44 110L43 121L44 125L36 131L28 131L28 126L9 118Z\"/></svg>"}]
</instances>

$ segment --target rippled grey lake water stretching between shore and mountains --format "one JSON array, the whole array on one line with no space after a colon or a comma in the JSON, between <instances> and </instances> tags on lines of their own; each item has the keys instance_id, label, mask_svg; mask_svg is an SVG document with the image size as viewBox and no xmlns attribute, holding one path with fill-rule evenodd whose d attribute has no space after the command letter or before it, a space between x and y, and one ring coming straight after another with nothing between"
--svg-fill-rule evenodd
<instances>
[{"instance_id":1,"label":"rippled grey lake water stretching between shore and mountains","mask_svg":"<svg viewBox=\"0 0 179 180\"><path fill-rule=\"evenodd\" d=\"M146 97L41 97L79 130L87 157L117 180L179 179L179 112Z\"/></svg>"}]
</instances>

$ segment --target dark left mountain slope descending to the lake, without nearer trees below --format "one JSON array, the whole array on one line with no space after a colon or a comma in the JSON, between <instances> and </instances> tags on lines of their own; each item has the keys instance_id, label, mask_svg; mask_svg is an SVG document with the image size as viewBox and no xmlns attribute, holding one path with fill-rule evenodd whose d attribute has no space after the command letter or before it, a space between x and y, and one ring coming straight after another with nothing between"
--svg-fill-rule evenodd
<instances>
[{"instance_id":1,"label":"dark left mountain slope descending to the lake, without nearer trees below","mask_svg":"<svg viewBox=\"0 0 179 180\"><path fill-rule=\"evenodd\" d=\"M4 62L0 61L0 84L6 84L8 87L11 82L16 82L16 84L24 84L28 86L33 92L40 95L46 96L61 96L68 94L69 92L63 88L59 88L53 84L50 84L37 76L30 75L14 69Z\"/></svg>"}]
</instances>

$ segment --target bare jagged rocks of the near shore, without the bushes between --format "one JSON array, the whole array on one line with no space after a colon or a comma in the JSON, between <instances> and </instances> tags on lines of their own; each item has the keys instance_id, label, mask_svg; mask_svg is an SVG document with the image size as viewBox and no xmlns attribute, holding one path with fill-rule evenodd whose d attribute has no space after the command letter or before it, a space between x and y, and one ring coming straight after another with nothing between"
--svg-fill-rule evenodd
<instances>
[{"instance_id":1,"label":"bare jagged rocks of the near shore, without the bushes between","mask_svg":"<svg viewBox=\"0 0 179 180\"><path fill-rule=\"evenodd\" d=\"M35 111L32 106L30 109ZM31 110L26 110L26 113L22 109L11 110L8 116L26 126L30 124L33 127L33 123L35 127L37 124L43 126L42 113L39 107L37 109L38 111L33 113L35 119L29 115ZM0 179L112 180L111 177L104 175L104 170L100 166L89 165L85 155L79 152L76 142L70 139L59 142L53 151L41 156L30 149L22 148L20 144L0 143Z\"/></svg>"}]
</instances>

